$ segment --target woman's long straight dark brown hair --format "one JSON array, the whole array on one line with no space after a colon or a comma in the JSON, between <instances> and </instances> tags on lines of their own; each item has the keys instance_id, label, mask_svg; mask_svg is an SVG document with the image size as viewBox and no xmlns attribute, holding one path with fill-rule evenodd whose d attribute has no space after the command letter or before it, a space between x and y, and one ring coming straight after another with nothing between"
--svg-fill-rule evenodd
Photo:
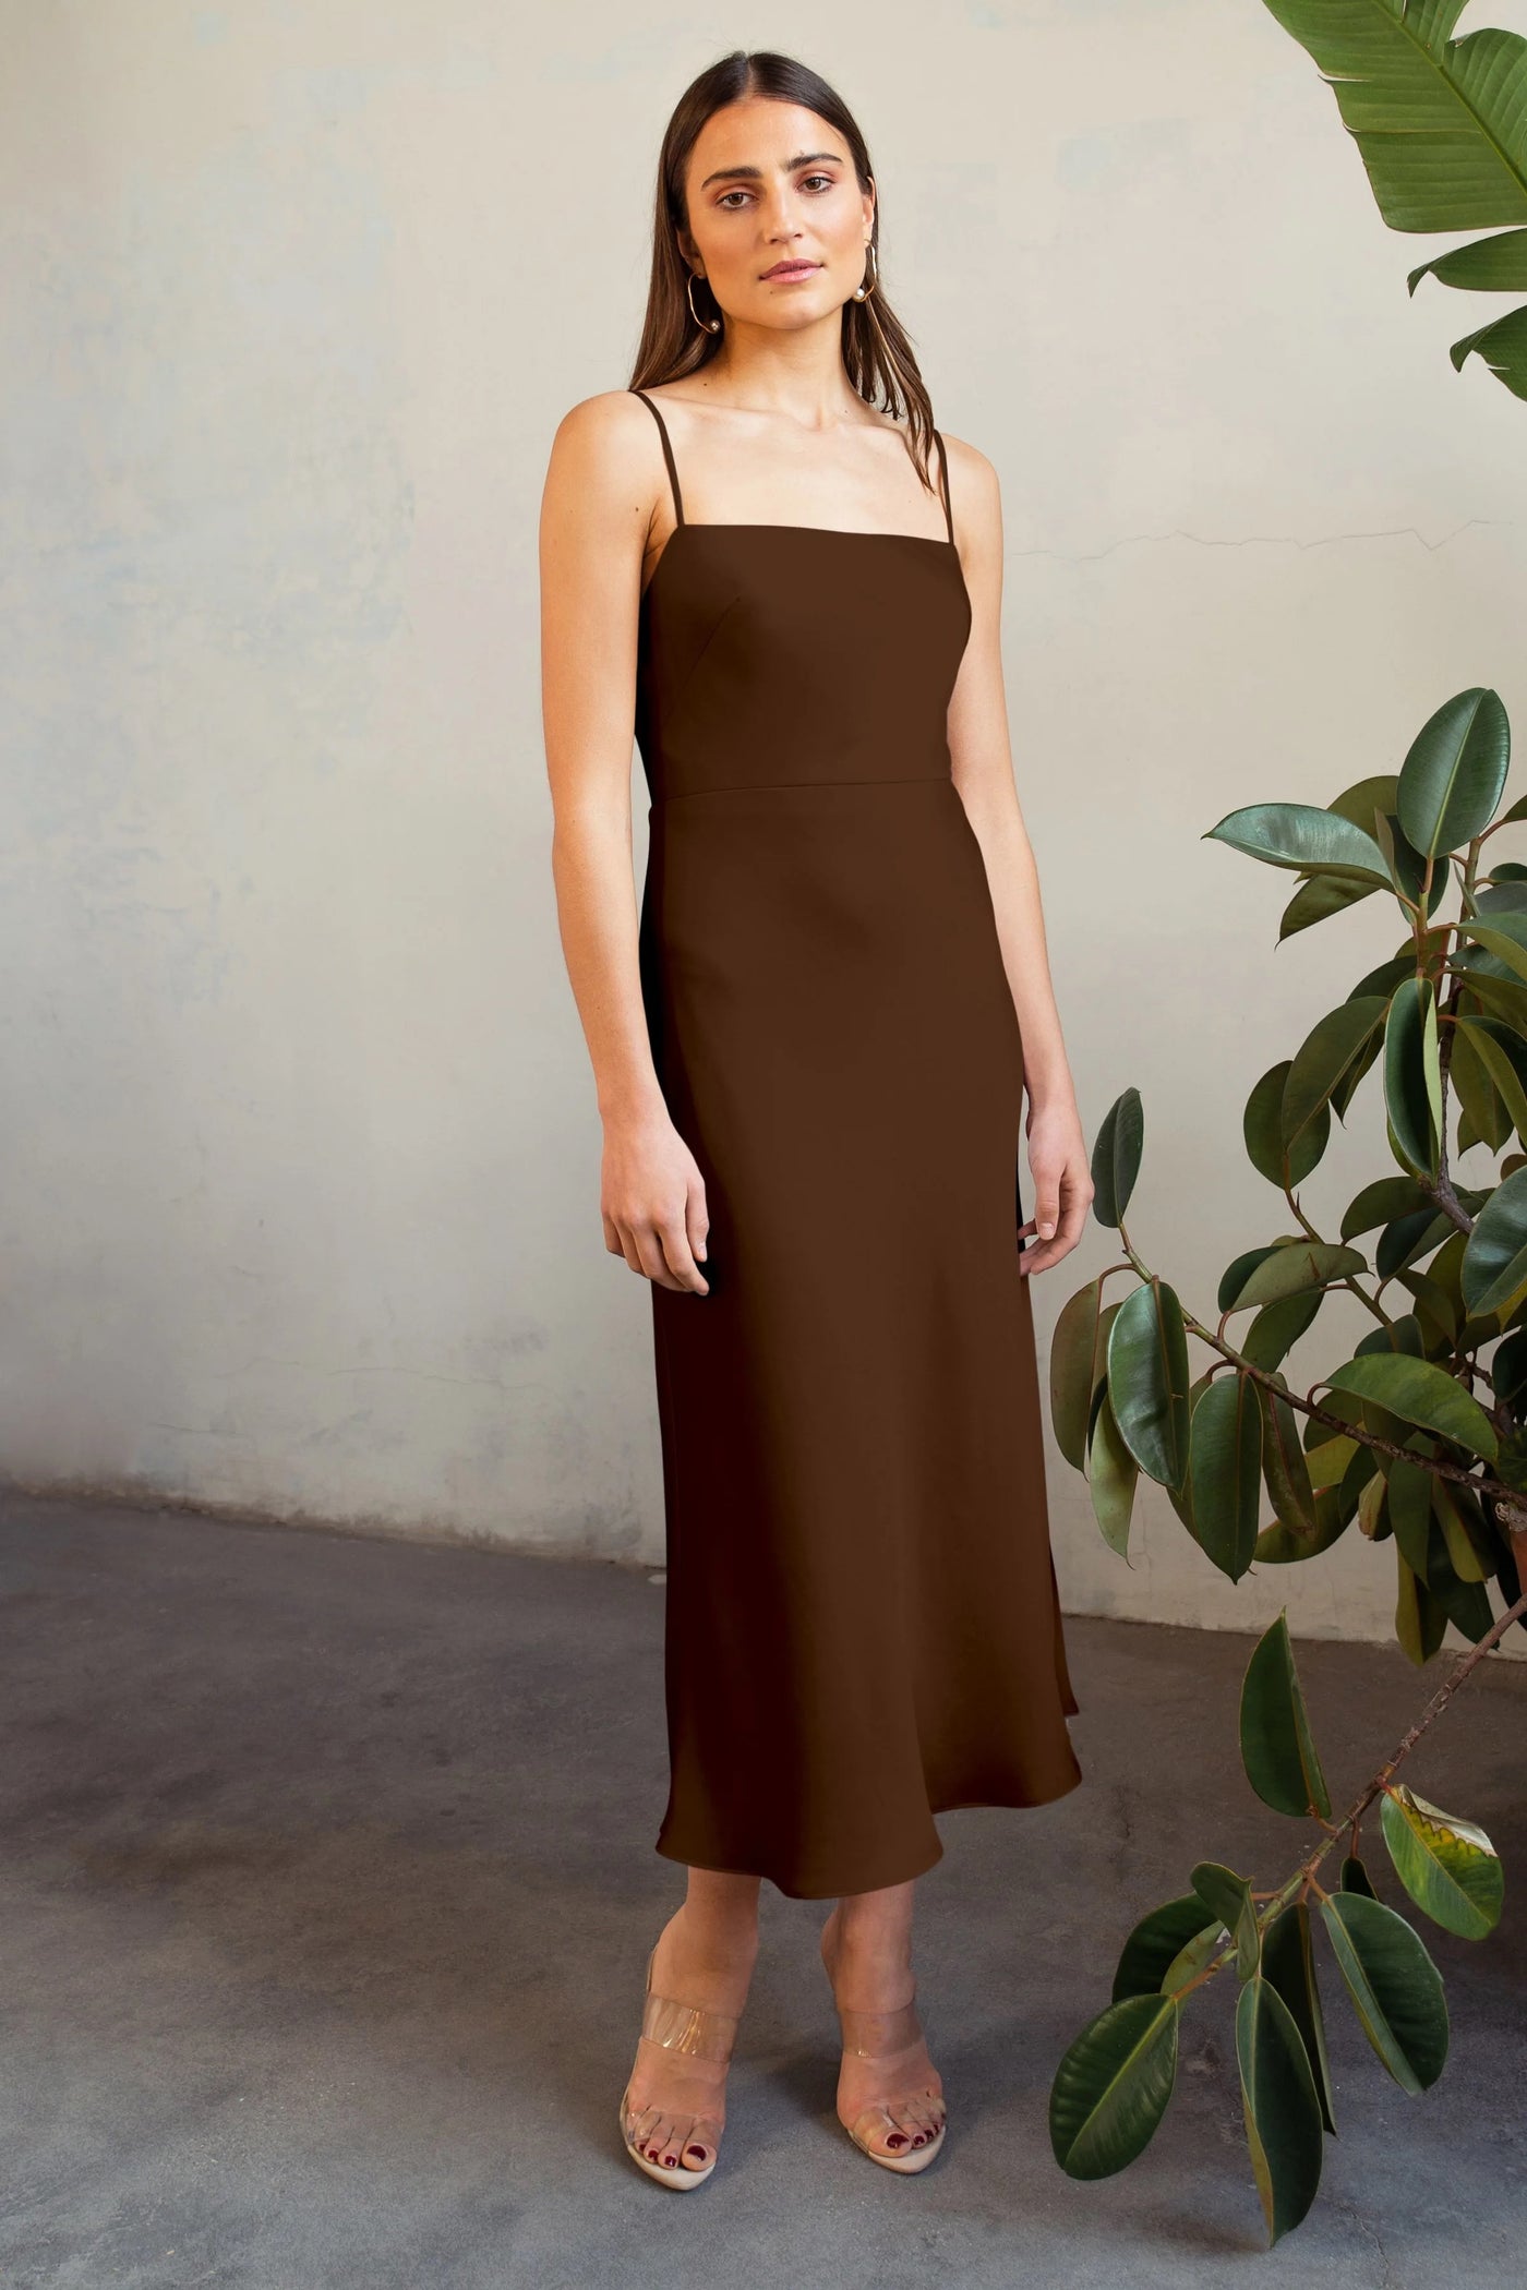
<instances>
[{"instance_id":1,"label":"woman's long straight dark brown hair","mask_svg":"<svg viewBox=\"0 0 1527 2290\"><path fill-rule=\"evenodd\" d=\"M810 71L808 64L797 64L792 55L774 55L767 48L753 55L737 48L733 55L723 55L719 64L710 64L673 105L657 158L652 282L648 286L648 309L641 325L632 389L650 389L655 382L678 382L687 373L698 373L721 348L721 334L707 334L689 314L691 270L680 252L678 231L689 227L685 174L696 137L712 112L737 103L742 96L772 96L778 103L799 103L804 110L826 119L849 147L859 188L870 190L872 167L859 121L842 96ZM879 197L875 199L872 245L879 270ZM696 282L696 289L705 293L701 282ZM893 421L907 419L907 451L923 483L932 490L927 451L934 433L934 408L918 371L911 339L886 302L884 286L877 286L863 302L849 298L842 305L842 364L861 398L870 405L881 403Z\"/></svg>"}]
</instances>

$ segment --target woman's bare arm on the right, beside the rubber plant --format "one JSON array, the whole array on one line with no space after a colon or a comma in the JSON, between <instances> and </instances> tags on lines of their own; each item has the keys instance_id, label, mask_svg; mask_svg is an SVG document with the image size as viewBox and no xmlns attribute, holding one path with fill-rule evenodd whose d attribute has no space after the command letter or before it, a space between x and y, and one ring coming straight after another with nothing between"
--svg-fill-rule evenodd
<instances>
[{"instance_id":1,"label":"woman's bare arm on the right, beside the rubber plant","mask_svg":"<svg viewBox=\"0 0 1527 2290\"><path fill-rule=\"evenodd\" d=\"M950 758L987 861L1003 966L1023 1035L1028 1166L1035 1179L1035 1214L1023 1232L1037 1230L1039 1243L1021 1253L1021 1264L1035 1273L1076 1248L1092 1202L1092 1172L1055 1010L1039 870L1012 776L1003 687L1000 490L984 453L957 437L946 442L955 536L971 591L971 641L950 698Z\"/></svg>"}]
</instances>

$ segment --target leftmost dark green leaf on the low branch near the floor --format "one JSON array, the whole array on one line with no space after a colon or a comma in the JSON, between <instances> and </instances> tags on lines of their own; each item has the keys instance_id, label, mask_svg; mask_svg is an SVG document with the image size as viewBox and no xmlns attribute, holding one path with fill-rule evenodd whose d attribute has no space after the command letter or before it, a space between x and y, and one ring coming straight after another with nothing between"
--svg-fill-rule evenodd
<instances>
[{"instance_id":1,"label":"leftmost dark green leaf on the low branch near the floor","mask_svg":"<svg viewBox=\"0 0 1527 2290\"><path fill-rule=\"evenodd\" d=\"M1140 2155L1177 2079L1172 1997L1122 1997L1087 2022L1051 2084L1051 2150L1069 2178L1108 2178Z\"/></svg>"}]
</instances>

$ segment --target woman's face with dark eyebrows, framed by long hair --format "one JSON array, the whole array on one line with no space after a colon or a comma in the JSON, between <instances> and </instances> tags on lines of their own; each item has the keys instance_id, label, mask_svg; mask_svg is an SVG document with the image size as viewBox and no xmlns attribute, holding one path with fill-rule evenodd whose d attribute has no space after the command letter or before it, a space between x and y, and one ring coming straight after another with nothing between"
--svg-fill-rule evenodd
<instances>
[{"instance_id":1,"label":"woman's face with dark eyebrows, framed by long hair","mask_svg":"<svg viewBox=\"0 0 1527 2290\"><path fill-rule=\"evenodd\" d=\"M804 327L863 282L875 192L817 112L769 96L728 103L701 128L685 181L680 247L728 318ZM696 295L705 309L703 295Z\"/></svg>"}]
</instances>

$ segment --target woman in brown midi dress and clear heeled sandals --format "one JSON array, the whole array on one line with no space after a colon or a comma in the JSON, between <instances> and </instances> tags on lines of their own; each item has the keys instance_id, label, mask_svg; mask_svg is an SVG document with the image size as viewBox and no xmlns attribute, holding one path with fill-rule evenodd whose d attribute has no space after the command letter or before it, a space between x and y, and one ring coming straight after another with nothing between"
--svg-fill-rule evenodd
<instances>
[{"instance_id":1,"label":"woman in brown midi dress and clear heeled sandals","mask_svg":"<svg viewBox=\"0 0 1527 2290\"><path fill-rule=\"evenodd\" d=\"M543 511L604 1243L652 1285L657 1850L689 1871L620 2125L682 2189L714 2169L760 1880L836 1898L838 2116L920 2171L934 1814L1081 1779L1023 1276L1076 1246L1092 1182L1007 749L996 474L932 426L877 218L824 80L701 73L632 389L565 417Z\"/></svg>"}]
</instances>

